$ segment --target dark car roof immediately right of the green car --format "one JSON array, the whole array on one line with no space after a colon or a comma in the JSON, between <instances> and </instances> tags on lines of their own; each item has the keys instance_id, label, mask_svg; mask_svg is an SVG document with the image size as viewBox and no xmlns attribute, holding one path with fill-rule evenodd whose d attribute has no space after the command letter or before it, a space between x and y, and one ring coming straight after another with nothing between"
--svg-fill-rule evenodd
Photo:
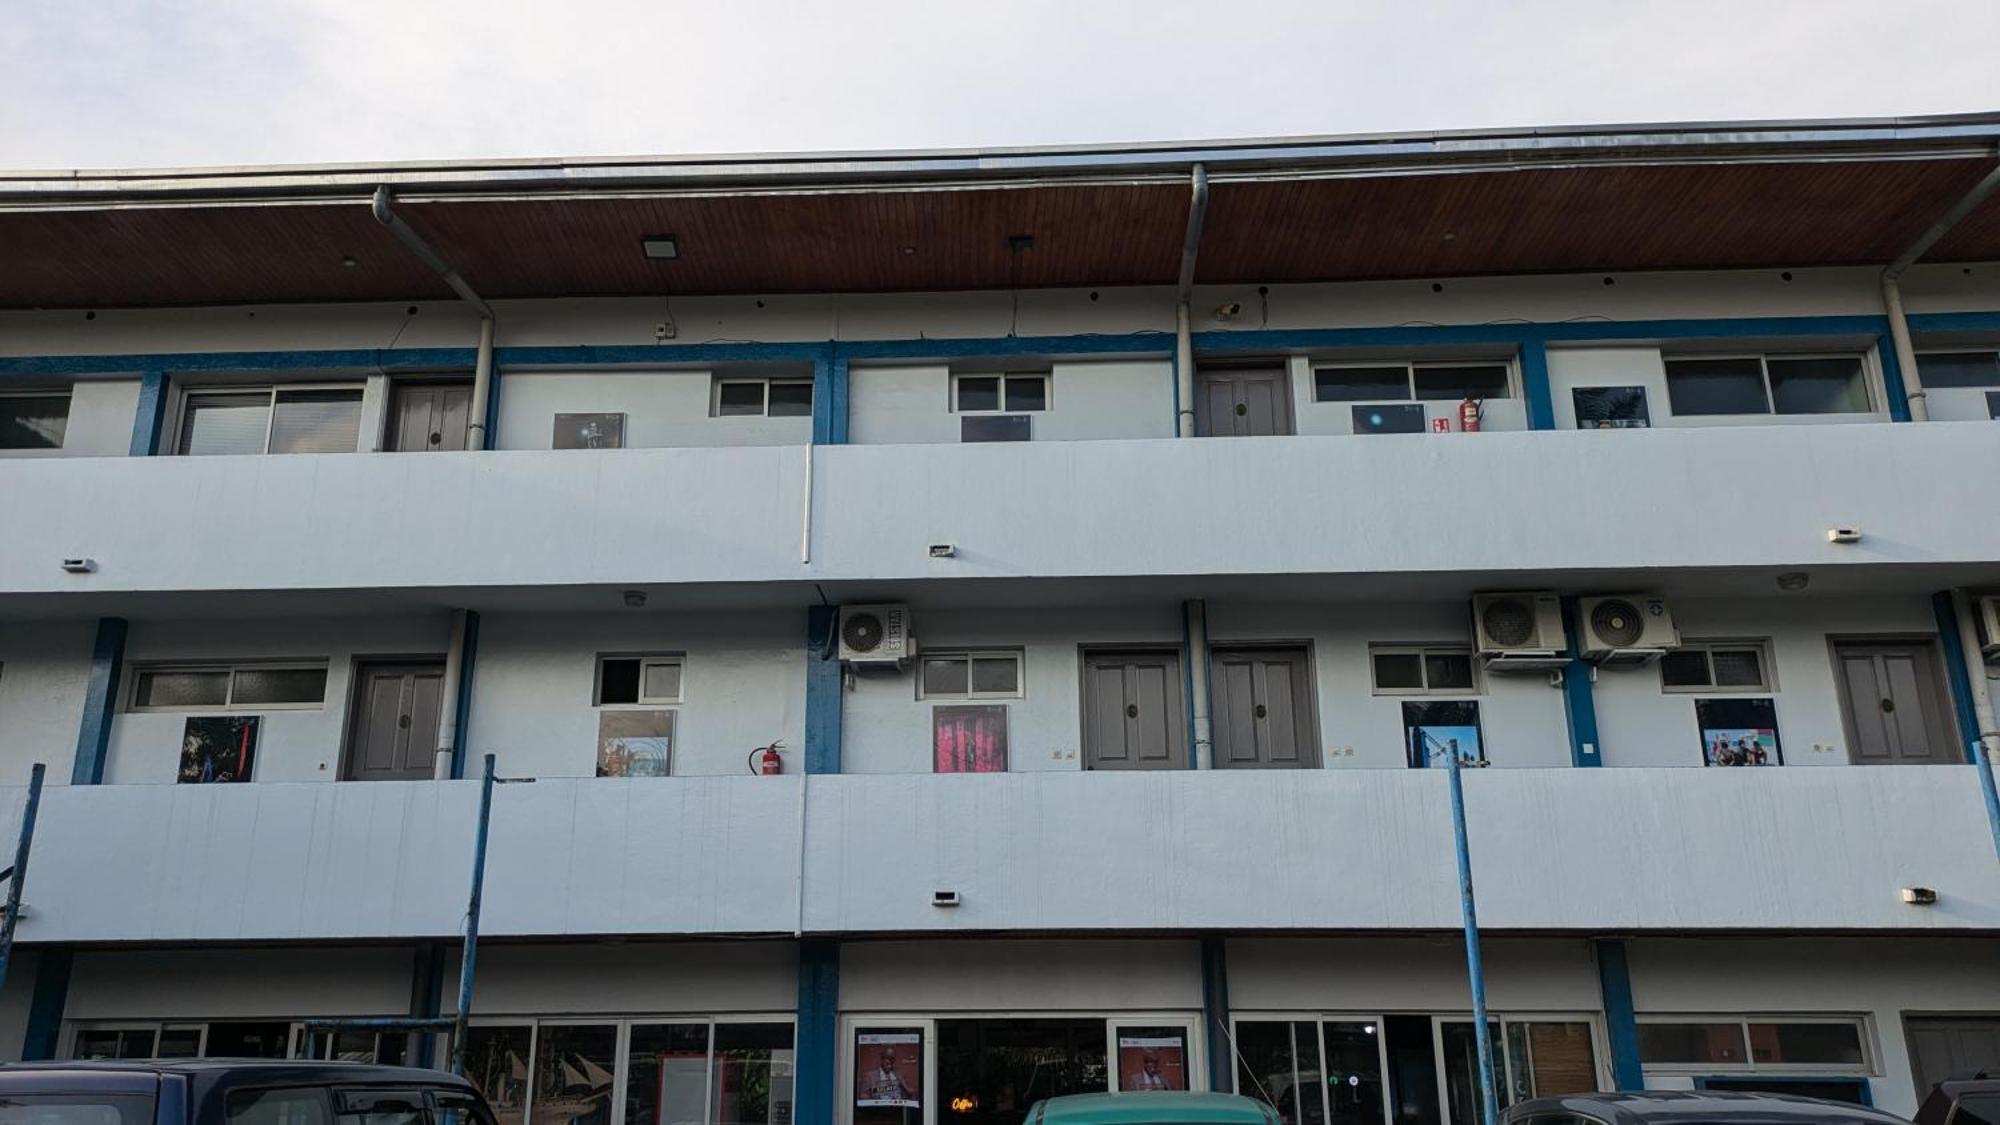
<instances>
[{"instance_id":1,"label":"dark car roof immediately right of the green car","mask_svg":"<svg viewBox=\"0 0 2000 1125\"><path fill-rule=\"evenodd\" d=\"M1502 1125L1910 1125L1894 1113L1790 1093L1624 1091L1536 1097Z\"/></svg>"}]
</instances>

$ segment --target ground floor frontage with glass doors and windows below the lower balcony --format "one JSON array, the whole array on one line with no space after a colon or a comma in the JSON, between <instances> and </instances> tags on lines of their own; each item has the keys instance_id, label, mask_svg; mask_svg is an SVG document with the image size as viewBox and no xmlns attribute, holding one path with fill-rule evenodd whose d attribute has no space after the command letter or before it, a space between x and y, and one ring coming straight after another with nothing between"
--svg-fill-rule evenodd
<instances>
[{"instance_id":1,"label":"ground floor frontage with glass doors and windows below the lower balcony","mask_svg":"<svg viewBox=\"0 0 2000 1125\"><path fill-rule=\"evenodd\" d=\"M1290 1125L1476 1119L1450 935L812 945L488 943L468 1073L502 1125L1014 1125L1036 1099L1104 1089L1236 1089ZM10 1055L40 1037L58 1057L442 1063L442 1037L306 1021L408 1015L426 995L450 1013L446 953L26 951L0 1033ZM832 1005L806 1003L814 959ZM2000 1065L1990 937L1492 937L1486 981L1504 1101L1636 1073L1910 1113L1946 1069Z\"/></svg>"}]
</instances>

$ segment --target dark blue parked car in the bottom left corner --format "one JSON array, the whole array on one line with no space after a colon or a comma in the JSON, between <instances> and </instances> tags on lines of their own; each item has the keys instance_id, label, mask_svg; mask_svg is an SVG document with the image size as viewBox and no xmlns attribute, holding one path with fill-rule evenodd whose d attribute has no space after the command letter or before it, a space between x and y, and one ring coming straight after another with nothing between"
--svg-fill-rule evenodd
<instances>
[{"instance_id":1,"label":"dark blue parked car in the bottom left corner","mask_svg":"<svg viewBox=\"0 0 2000 1125\"><path fill-rule=\"evenodd\" d=\"M442 1071L282 1059L0 1067L4 1125L494 1125Z\"/></svg>"}]
</instances>

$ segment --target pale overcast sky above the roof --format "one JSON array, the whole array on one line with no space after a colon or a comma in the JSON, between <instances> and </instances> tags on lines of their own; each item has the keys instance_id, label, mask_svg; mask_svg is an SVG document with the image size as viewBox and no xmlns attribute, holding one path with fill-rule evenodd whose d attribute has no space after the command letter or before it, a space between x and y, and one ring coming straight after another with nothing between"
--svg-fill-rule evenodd
<instances>
[{"instance_id":1,"label":"pale overcast sky above the roof","mask_svg":"<svg viewBox=\"0 0 2000 1125\"><path fill-rule=\"evenodd\" d=\"M4 0L0 166L2000 108L2000 0Z\"/></svg>"}]
</instances>

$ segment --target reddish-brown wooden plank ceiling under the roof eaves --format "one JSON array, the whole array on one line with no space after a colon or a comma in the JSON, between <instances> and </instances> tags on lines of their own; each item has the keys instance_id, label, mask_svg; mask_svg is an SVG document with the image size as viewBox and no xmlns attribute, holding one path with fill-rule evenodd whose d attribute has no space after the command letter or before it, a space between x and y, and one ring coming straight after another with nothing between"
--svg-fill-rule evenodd
<instances>
[{"instance_id":1,"label":"reddish-brown wooden plank ceiling under the roof eaves","mask_svg":"<svg viewBox=\"0 0 2000 1125\"><path fill-rule=\"evenodd\" d=\"M1216 184L1204 282L1884 264L1986 160L1598 166ZM1180 184L406 202L488 298L1172 284ZM674 234L680 258L640 238ZM1028 234L1034 246L1010 246ZM2000 198L1926 260L2000 258ZM0 214L0 306L450 290L366 198Z\"/></svg>"}]
</instances>

